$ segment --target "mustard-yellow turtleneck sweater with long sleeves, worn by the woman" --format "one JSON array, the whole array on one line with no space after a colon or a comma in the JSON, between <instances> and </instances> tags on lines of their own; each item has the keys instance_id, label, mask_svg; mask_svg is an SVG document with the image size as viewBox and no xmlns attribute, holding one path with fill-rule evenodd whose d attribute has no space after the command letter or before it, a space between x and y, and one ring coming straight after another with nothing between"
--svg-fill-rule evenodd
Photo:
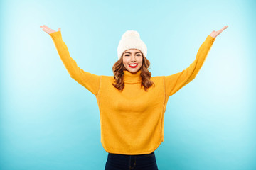
<instances>
[{"instance_id":1,"label":"mustard-yellow turtleneck sweater with long sleeves, worn by the woman","mask_svg":"<svg viewBox=\"0 0 256 170\"><path fill-rule=\"evenodd\" d=\"M95 94L100 109L101 143L114 154L149 154L164 141L164 113L169 96L195 79L215 38L207 36L196 60L182 72L151 77L156 86L141 88L140 71L124 71L124 90L112 83L113 76L95 75L78 67L70 57L60 31L51 33L58 55L70 77Z\"/></svg>"}]
</instances>

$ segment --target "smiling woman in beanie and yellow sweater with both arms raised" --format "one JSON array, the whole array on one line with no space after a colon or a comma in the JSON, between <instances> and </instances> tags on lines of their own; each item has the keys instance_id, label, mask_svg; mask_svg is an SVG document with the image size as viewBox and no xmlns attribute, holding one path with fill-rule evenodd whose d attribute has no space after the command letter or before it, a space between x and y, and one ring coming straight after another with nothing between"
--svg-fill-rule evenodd
<instances>
[{"instance_id":1,"label":"smiling woman in beanie and yellow sweater with both arms raised","mask_svg":"<svg viewBox=\"0 0 256 170\"><path fill-rule=\"evenodd\" d=\"M169 96L195 79L215 38L228 26L207 36L196 60L182 72L151 77L147 48L139 33L127 30L117 47L114 76L85 72L70 57L58 31L40 26L53 39L70 77L97 98L101 143L108 152L105 169L158 169L154 150L164 141L164 113Z\"/></svg>"}]
</instances>

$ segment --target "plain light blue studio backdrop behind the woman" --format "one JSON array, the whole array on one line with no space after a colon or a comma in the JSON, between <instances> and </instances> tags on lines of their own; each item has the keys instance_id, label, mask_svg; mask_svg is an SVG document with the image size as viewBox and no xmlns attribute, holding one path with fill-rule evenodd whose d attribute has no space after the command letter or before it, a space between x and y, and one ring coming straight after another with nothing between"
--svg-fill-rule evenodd
<instances>
[{"instance_id":1,"label":"plain light blue studio backdrop behind the woman","mask_svg":"<svg viewBox=\"0 0 256 170\"><path fill-rule=\"evenodd\" d=\"M81 69L112 76L137 30L152 76L186 69L213 31L196 79L169 98L160 170L256 169L256 1L1 2L0 169L105 168L96 98L72 79L40 26L61 28Z\"/></svg>"}]
</instances>

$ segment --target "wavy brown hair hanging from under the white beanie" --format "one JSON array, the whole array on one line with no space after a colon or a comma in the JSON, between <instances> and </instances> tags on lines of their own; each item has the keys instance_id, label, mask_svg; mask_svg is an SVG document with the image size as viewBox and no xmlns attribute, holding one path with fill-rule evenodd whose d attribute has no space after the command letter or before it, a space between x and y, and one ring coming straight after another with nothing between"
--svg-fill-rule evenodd
<instances>
[{"instance_id":1,"label":"wavy brown hair hanging from under the white beanie","mask_svg":"<svg viewBox=\"0 0 256 170\"><path fill-rule=\"evenodd\" d=\"M142 52L141 52L142 53ZM124 55L124 53L123 53ZM120 57L120 59L114 63L112 70L114 72L114 83L113 86L115 88L117 88L119 91L122 91L124 89L124 70L127 70L124 67L124 64L122 62L122 57ZM141 72L141 77L142 77L142 84L141 86L144 86L144 90L148 91L148 88L151 87L152 85L155 86L154 82L150 80L151 78L151 72L149 72L150 69L150 62L149 60L146 59L146 57L144 57L143 53L142 53L142 67L140 68L140 70L142 70Z\"/></svg>"}]
</instances>

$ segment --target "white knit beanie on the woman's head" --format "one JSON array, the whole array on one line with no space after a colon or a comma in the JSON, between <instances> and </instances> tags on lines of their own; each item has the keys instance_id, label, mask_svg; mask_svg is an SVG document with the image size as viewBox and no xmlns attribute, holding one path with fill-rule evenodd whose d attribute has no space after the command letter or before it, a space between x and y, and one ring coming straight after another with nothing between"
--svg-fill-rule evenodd
<instances>
[{"instance_id":1,"label":"white knit beanie on the woman's head","mask_svg":"<svg viewBox=\"0 0 256 170\"><path fill-rule=\"evenodd\" d=\"M118 60L122 57L124 51L129 49L140 50L143 55L146 57L146 45L140 39L139 33L136 30L127 30L123 35L117 47L117 56Z\"/></svg>"}]
</instances>

